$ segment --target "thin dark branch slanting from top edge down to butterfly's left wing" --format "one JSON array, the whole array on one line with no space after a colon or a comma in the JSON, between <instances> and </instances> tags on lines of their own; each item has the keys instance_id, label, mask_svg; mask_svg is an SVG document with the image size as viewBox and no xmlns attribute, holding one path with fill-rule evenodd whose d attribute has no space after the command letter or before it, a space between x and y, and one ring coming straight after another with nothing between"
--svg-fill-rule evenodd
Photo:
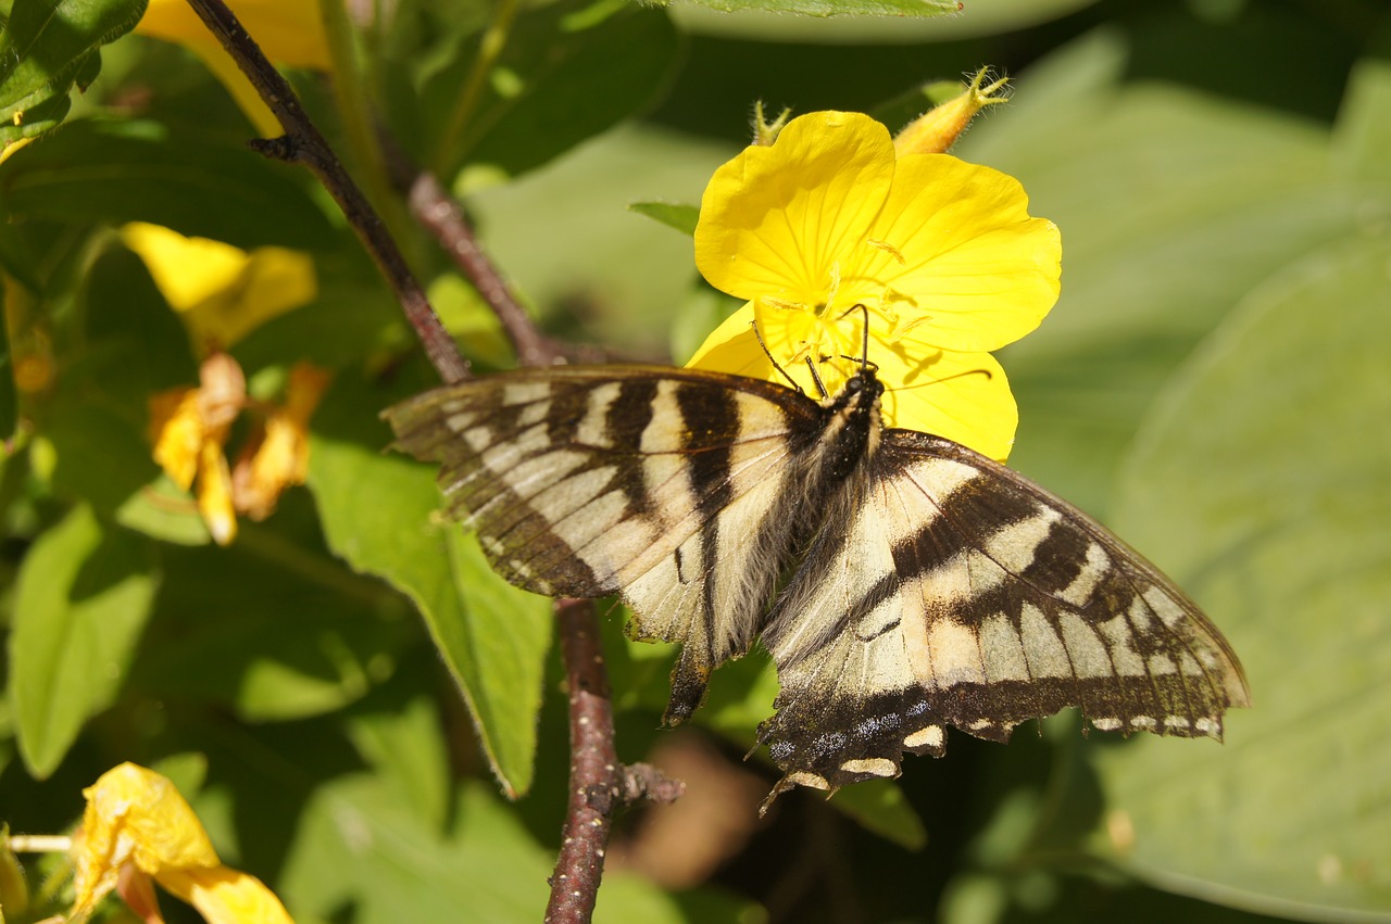
<instances>
[{"instance_id":1,"label":"thin dark branch slanting from top edge down to butterfly's left wing","mask_svg":"<svg viewBox=\"0 0 1391 924\"><path fill-rule=\"evenodd\" d=\"M420 338L426 356L440 372L440 378L445 382L467 378L469 364L459 356L453 339L430 307L424 289L406 265L396 242L310 121L289 82L271 65L223 0L188 0L188 3L232 56L285 129L284 136L257 140L253 147L266 156L303 164L319 178L396 293L406 320L416 329L416 336Z\"/></svg>"}]
</instances>

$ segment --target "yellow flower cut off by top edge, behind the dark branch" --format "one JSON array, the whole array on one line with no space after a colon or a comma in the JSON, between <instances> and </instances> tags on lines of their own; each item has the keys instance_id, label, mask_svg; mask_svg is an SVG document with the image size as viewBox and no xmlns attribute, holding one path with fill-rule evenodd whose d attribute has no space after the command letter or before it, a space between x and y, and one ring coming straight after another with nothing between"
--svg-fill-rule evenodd
<instances>
[{"instance_id":1,"label":"yellow flower cut off by top edge, behind the dark branch","mask_svg":"<svg viewBox=\"0 0 1391 924\"><path fill-rule=\"evenodd\" d=\"M227 6L275 64L328 69L328 39L317 0L230 0ZM135 31L188 47L227 88L257 131L267 138L281 133L280 122L188 0L150 0Z\"/></svg>"}]
</instances>

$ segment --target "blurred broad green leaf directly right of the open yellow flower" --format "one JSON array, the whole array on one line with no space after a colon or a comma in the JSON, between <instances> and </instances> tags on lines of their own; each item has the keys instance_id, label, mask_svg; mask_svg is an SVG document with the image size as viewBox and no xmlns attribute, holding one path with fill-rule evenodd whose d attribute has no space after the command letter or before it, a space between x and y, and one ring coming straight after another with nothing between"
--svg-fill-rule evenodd
<instances>
[{"instance_id":1,"label":"blurred broad green leaf directly right of the open yellow flower","mask_svg":"<svg viewBox=\"0 0 1391 924\"><path fill-rule=\"evenodd\" d=\"M1124 83L1099 32L1020 78L956 151L1024 183L1063 232L1063 295L1002 353L1011 465L1104 514L1116 465L1173 370L1253 285L1360 224L1308 121L1177 85Z\"/></svg>"}]
</instances>

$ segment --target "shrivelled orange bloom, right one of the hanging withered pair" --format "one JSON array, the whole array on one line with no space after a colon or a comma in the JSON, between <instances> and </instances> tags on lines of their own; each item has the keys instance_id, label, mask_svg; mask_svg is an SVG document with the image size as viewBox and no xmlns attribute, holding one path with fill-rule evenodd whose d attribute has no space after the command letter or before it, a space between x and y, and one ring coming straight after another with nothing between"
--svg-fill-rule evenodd
<instances>
[{"instance_id":1,"label":"shrivelled orange bloom, right one of the hanging withered pair","mask_svg":"<svg viewBox=\"0 0 1391 924\"><path fill-rule=\"evenodd\" d=\"M309 474L309 418L319 406L330 374L296 363L285 386L285 404L274 409L266 427L242 449L232 470L232 496L239 513L264 520L280 495L305 484Z\"/></svg>"}]
</instances>

